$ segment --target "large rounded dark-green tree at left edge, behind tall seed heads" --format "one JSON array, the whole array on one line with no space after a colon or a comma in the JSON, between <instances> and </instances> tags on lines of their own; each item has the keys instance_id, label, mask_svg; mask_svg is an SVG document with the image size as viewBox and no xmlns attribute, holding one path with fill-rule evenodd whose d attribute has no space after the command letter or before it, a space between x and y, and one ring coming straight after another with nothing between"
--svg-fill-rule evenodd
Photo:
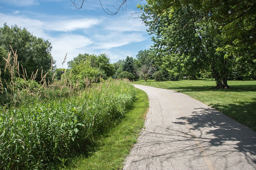
<instances>
[{"instance_id":1,"label":"large rounded dark-green tree at left edge, behind tall seed heads","mask_svg":"<svg viewBox=\"0 0 256 170\"><path fill-rule=\"evenodd\" d=\"M17 50L18 62L26 69L29 77L32 73L35 74L37 69L39 73L43 70L43 74L47 72L51 74L51 68L54 69L56 67L52 67L52 64L55 64L55 60L52 58L52 46L48 40L36 38L27 29L21 29L17 25L9 27L4 24L3 27L0 27L0 47L2 48L2 53L3 50L10 52L11 46L13 50ZM2 64L0 67L2 71ZM20 73L23 73L22 67L20 67ZM40 81L40 75L36 80Z\"/></svg>"}]
</instances>

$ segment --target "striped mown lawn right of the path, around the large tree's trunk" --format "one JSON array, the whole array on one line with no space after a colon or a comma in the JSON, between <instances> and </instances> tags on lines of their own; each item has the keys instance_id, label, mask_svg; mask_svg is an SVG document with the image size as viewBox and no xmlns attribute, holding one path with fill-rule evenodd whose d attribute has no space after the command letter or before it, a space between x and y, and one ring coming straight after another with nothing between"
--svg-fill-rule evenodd
<instances>
[{"instance_id":1,"label":"striped mown lawn right of the path, around the large tree's trunk","mask_svg":"<svg viewBox=\"0 0 256 170\"><path fill-rule=\"evenodd\" d=\"M256 131L256 81L228 81L231 89L214 89L209 79L133 83L187 94Z\"/></svg>"}]
</instances>

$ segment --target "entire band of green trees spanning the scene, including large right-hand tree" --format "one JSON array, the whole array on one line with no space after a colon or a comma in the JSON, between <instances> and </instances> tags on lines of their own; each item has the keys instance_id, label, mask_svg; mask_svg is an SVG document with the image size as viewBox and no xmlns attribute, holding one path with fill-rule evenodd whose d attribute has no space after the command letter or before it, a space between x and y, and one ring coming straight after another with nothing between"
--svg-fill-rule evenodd
<instances>
[{"instance_id":1,"label":"entire band of green trees spanning the scene, including large right-hand tree","mask_svg":"<svg viewBox=\"0 0 256 170\"><path fill-rule=\"evenodd\" d=\"M56 68L48 40L4 24L0 28L1 78L8 81L4 67L12 46L19 55L21 73L29 77L43 70L41 74L49 81L60 80L63 73L73 84L84 77L97 81L108 77L131 81L204 77L215 78L216 88L228 88L228 80L256 79L255 0L205 2L148 0L137 7L152 35L150 49L113 64L107 54L78 54L68 61L68 69Z\"/></svg>"}]
</instances>

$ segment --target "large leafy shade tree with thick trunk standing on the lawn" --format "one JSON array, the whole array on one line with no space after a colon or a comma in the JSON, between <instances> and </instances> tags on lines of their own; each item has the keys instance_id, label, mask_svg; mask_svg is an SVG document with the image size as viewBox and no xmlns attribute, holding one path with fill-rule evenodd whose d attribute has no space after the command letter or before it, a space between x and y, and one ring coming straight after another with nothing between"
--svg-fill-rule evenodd
<instances>
[{"instance_id":1,"label":"large leafy shade tree with thick trunk standing on the lawn","mask_svg":"<svg viewBox=\"0 0 256 170\"><path fill-rule=\"evenodd\" d=\"M211 72L218 88L255 70L255 1L161 1L139 5L159 66L173 74ZM239 70L238 68L246 67ZM245 71L246 70L246 71ZM255 75L255 74L254 74Z\"/></svg>"}]
</instances>

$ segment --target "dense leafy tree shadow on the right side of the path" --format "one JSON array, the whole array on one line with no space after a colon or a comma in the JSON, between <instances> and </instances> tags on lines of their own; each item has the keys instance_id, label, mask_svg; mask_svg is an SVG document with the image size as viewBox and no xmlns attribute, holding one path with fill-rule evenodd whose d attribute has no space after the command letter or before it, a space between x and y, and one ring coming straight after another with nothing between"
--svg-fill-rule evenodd
<instances>
[{"instance_id":1,"label":"dense leafy tree shadow on the right side of the path","mask_svg":"<svg viewBox=\"0 0 256 170\"><path fill-rule=\"evenodd\" d=\"M210 135L211 138L207 137L210 147L229 145L233 152L242 153L246 161L256 168L256 133L251 129L212 108L196 108L190 116L180 117L178 120L182 121L173 123L186 122L190 131L197 132L196 138Z\"/></svg>"}]
</instances>

